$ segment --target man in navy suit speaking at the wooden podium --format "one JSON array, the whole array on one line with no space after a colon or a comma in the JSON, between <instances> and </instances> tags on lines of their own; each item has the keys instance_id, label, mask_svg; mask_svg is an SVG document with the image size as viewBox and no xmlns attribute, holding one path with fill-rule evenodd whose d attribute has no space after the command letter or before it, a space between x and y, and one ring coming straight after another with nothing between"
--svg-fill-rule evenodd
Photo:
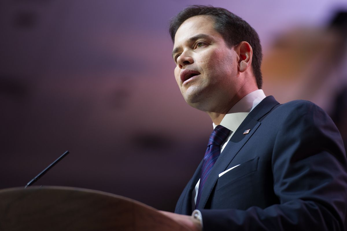
<instances>
[{"instance_id":1,"label":"man in navy suit speaking at the wooden podium","mask_svg":"<svg viewBox=\"0 0 347 231\"><path fill-rule=\"evenodd\" d=\"M254 29L226 9L188 7L171 22L175 77L214 131L174 213L192 230L345 230L347 161L330 117L261 90Z\"/></svg>"}]
</instances>

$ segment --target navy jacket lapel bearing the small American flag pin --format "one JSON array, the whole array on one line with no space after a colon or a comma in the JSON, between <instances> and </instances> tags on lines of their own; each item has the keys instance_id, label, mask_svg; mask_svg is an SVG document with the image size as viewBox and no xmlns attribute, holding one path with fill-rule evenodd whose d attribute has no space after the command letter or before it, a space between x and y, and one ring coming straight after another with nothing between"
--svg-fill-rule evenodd
<instances>
[{"instance_id":1,"label":"navy jacket lapel bearing the small American flag pin","mask_svg":"<svg viewBox=\"0 0 347 231\"><path fill-rule=\"evenodd\" d=\"M266 97L247 115L245 120L234 132L234 135L232 135L227 146L218 157L218 160L214 164L209 177L205 182L198 209L203 209L205 207L214 185L218 180L218 174L226 170L232 159L234 159L236 154L261 125L260 121L263 119L263 117L268 114L277 104L279 103L273 98L273 96ZM247 129L251 130L248 134L243 135L243 132Z\"/></svg>"}]
</instances>

